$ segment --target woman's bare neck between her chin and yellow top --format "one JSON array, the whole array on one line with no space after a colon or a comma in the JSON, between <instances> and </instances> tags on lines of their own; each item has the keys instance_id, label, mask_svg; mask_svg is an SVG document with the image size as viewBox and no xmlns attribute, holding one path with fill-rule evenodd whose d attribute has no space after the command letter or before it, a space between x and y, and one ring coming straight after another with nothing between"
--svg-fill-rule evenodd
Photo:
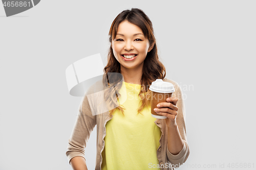
<instances>
[{"instance_id":1,"label":"woman's bare neck between her chin and yellow top","mask_svg":"<svg viewBox=\"0 0 256 170\"><path fill-rule=\"evenodd\" d=\"M121 65L121 74L123 75L124 82L140 84L141 85L141 77L142 77L142 67L137 68L125 68Z\"/></svg>"}]
</instances>

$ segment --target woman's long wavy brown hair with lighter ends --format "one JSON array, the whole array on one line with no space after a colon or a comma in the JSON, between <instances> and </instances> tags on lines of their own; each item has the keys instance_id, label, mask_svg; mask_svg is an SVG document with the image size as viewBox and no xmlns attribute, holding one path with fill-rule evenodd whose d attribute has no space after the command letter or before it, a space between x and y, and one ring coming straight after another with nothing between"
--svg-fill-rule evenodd
<instances>
[{"instance_id":1,"label":"woman's long wavy brown hair with lighter ends","mask_svg":"<svg viewBox=\"0 0 256 170\"><path fill-rule=\"evenodd\" d=\"M138 113L141 114L142 109L144 106L148 107L148 104L150 103L150 92L149 89L152 82L154 82L156 79L164 79L165 78L165 67L164 65L159 61L158 58L158 52L157 52L157 45L156 45L156 39L154 36L154 30L153 25L148 18L148 16L140 9L138 8L132 8L131 10L124 10L121 13L117 15L117 17L112 22L110 32L109 32L109 41L112 43L112 40L115 39L117 29L119 24L127 20L130 23L133 23L134 25L138 26L145 38L147 38L150 42L150 47L153 48L150 52L147 53L146 58L143 63L143 70L142 70L142 77L141 77L141 89L139 92L139 99L142 102L141 106L138 108ZM122 79L120 76L117 76L115 74L111 74L114 72L120 73L120 63L116 60L113 48L110 46L109 48L109 54L108 54L108 64L104 67L104 75L103 75L103 85L109 88L104 93L104 99L105 102L108 104L109 108L112 108L110 110L110 116L113 114L113 112L118 108L121 110L122 113L124 113L123 109L125 109L122 105L122 107L117 103L117 101L114 100L114 97L116 96L116 99L118 99L118 90L122 86ZM110 81L111 80L111 81ZM106 83L107 82L107 83ZM114 108L114 109L113 109ZM123 114L124 115L124 114Z\"/></svg>"}]
</instances>

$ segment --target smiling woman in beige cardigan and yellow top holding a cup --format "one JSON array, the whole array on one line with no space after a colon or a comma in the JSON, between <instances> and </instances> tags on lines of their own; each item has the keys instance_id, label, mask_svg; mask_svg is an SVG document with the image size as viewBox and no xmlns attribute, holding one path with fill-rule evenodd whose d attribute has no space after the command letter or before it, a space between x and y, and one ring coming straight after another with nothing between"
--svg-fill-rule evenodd
<instances>
[{"instance_id":1,"label":"smiling woman in beige cardigan and yellow top holding a cup","mask_svg":"<svg viewBox=\"0 0 256 170\"><path fill-rule=\"evenodd\" d=\"M94 106L88 95L84 96L66 153L70 164L73 169L87 169L84 148L97 125L95 169L179 167L189 155L184 101L179 85L165 79L165 67L158 58L152 22L140 9L125 10L113 21L109 36L111 46L102 79L103 86L108 87L104 92L108 111L93 115ZM111 75L115 72L120 73L124 81ZM148 88L156 79L175 86L173 98L159 103L156 108L166 119L152 117L148 107Z\"/></svg>"}]
</instances>

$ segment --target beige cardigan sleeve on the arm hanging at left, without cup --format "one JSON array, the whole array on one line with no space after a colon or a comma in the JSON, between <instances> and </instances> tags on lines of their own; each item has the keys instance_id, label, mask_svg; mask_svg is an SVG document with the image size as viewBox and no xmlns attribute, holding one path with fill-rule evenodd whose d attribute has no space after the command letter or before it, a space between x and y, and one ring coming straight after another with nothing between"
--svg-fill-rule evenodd
<instances>
[{"instance_id":1,"label":"beige cardigan sleeve on the arm hanging at left, without cup","mask_svg":"<svg viewBox=\"0 0 256 170\"><path fill-rule=\"evenodd\" d=\"M96 116L92 115L87 95L84 95L79 105L76 122L68 142L66 156L69 163L76 156L84 158L84 148L86 148L86 143L95 125Z\"/></svg>"}]
</instances>

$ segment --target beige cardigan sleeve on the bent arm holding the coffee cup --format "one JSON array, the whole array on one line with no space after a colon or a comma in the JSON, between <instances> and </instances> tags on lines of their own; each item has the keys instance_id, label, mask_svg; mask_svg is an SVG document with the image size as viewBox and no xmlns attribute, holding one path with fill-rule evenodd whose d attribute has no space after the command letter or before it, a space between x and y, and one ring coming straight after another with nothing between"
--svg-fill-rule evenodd
<instances>
[{"instance_id":1,"label":"beige cardigan sleeve on the bent arm holding the coffee cup","mask_svg":"<svg viewBox=\"0 0 256 170\"><path fill-rule=\"evenodd\" d=\"M189 155L189 147L186 139L185 105L184 105L183 94L181 91L181 87L176 82L171 82L171 83L173 83L175 86L175 92L173 94L173 97L178 98L178 102L176 104L176 106L178 107L176 123L184 144L183 144L182 150L177 155L173 155L172 153L170 153L168 150L168 147L166 150L166 154L167 154L168 161L172 163L175 166L175 168L178 168L187 160Z\"/></svg>"}]
</instances>

